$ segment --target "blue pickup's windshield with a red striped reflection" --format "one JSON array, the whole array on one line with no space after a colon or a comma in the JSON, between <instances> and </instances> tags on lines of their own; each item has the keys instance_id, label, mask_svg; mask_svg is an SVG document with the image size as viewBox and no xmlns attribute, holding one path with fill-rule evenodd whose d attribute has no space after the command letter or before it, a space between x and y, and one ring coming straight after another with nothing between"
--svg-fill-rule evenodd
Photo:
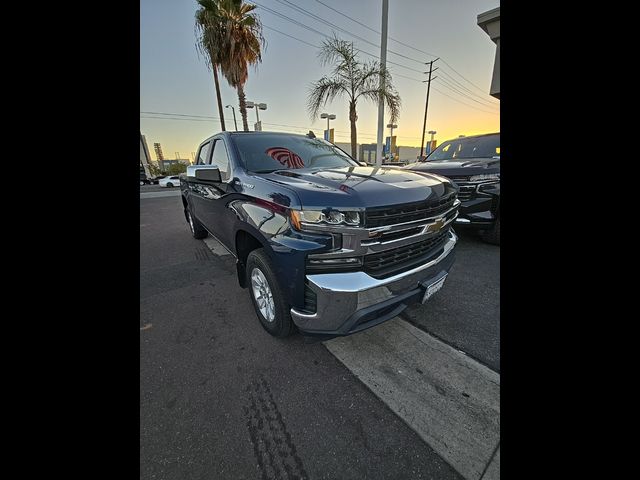
<instances>
[{"instance_id":1,"label":"blue pickup's windshield with a red striped reflection","mask_svg":"<svg viewBox=\"0 0 640 480\"><path fill-rule=\"evenodd\" d=\"M250 172L358 165L342 150L318 138L278 134L234 135L232 138Z\"/></svg>"}]
</instances>

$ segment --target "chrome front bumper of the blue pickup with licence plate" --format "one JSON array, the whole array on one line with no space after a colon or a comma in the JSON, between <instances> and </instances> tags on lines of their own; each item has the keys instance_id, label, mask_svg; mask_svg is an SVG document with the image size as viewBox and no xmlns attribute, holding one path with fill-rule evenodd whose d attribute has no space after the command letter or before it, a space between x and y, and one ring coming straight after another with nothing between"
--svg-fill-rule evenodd
<instances>
[{"instance_id":1,"label":"chrome front bumper of the blue pickup with licence plate","mask_svg":"<svg viewBox=\"0 0 640 480\"><path fill-rule=\"evenodd\" d=\"M364 272L307 275L309 288L317 297L316 312L292 308L291 317L303 333L318 335L347 335L389 320L410 303L420 301L425 284L448 272L457 241L450 230L438 257L385 279Z\"/></svg>"}]
</instances>

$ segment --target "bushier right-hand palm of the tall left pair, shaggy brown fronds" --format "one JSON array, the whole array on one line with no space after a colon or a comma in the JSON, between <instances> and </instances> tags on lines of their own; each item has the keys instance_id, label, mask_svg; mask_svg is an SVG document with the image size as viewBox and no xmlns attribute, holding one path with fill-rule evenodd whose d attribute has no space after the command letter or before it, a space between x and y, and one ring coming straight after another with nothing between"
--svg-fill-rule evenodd
<instances>
[{"instance_id":1,"label":"bushier right-hand palm of the tall left pair, shaggy brown fronds","mask_svg":"<svg viewBox=\"0 0 640 480\"><path fill-rule=\"evenodd\" d=\"M198 0L200 1L200 0ZM249 78L249 65L262 61L262 24L253 10L256 6L243 0L218 0L224 23L226 51L221 58L222 74L238 92L238 103L244 131L249 131L244 85Z\"/></svg>"}]
</instances>

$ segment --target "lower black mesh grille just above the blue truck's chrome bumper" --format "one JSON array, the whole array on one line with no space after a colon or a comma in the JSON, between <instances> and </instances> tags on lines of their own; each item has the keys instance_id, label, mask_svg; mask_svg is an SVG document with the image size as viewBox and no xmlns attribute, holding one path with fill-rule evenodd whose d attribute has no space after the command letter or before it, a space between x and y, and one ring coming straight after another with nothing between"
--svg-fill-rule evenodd
<instances>
[{"instance_id":1,"label":"lower black mesh grille just above the blue truck's chrome bumper","mask_svg":"<svg viewBox=\"0 0 640 480\"><path fill-rule=\"evenodd\" d=\"M364 257L364 271L374 278L386 278L421 265L442 249L450 227L437 235L404 247L372 253Z\"/></svg>"}]
</instances>

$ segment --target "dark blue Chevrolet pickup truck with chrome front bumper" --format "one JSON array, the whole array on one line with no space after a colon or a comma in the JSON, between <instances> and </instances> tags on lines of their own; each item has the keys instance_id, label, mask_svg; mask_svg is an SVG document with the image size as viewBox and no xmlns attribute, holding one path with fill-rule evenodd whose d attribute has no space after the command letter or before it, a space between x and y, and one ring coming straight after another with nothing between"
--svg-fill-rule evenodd
<instances>
[{"instance_id":1,"label":"dark blue Chevrolet pickup truck with chrome front bumper","mask_svg":"<svg viewBox=\"0 0 640 480\"><path fill-rule=\"evenodd\" d=\"M310 135L222 132L180 176L185 219L236 258L273 336L349 335L425 302L454 261L446 178L361 166Z\"/></svg>"}]
</instances>

